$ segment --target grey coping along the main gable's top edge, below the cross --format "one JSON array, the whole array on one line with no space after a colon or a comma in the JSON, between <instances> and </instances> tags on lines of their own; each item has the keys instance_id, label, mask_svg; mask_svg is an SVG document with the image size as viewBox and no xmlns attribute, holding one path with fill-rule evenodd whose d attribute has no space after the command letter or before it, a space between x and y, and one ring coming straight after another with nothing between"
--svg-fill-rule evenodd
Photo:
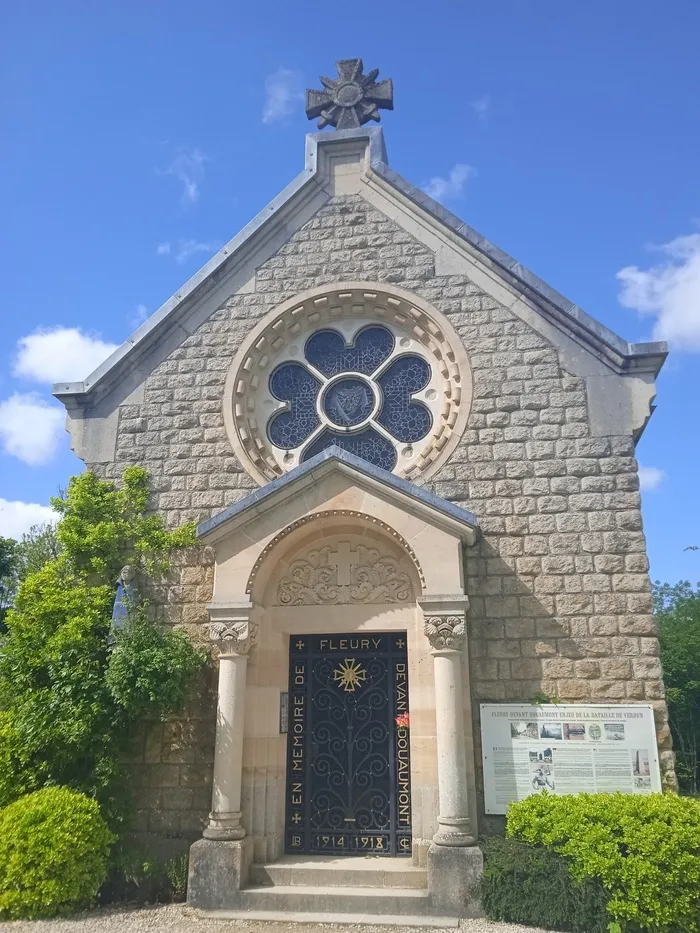
<instances>
[{"instance_id":1,"label":"grey coping along the main gable's top edge, below the cross","mask_svg":"<svg viewBox=\"0 0 700 933\"><path fill-rule=\"evenodd\" d=\"M226 265L258 233L268 227L287 204L308 185L316 183L318 176L318 149L320 145L342 142L348 139L369 140L369 161L374 173L383 178L390 186L400 191L410 201L431 214L457 236L482 252L507 275L522 282L527 289L536 293L554 308L558 309L565 320L573 321L583 327L594 339L612 348L630 362L649 360L654 373L657 373L668 353L665 343L630 344L591 317L572 301L551 288L533 272L513 259L486 237L482 236L459 217L428 197L420 188L406 181L387 164L384 134L381 127L360 127L354 130L338 130L333 133L308 133L305 144L304 169L272 201L246 224L228 243L225 244L205 265L202 266L174 295L172 295L151 317L148 318L114 353L97 367L82 382L59 382L52 387L52 393L66 404L78 402L80 396L91 393L98 386L104 385L107 377L114 373L119 365L130 356L135 348L147 349L156 339L156 332L167 330L176 324L175 312L180 311L187 302L196 299L203 287L212 278L218 279L225 274Z\"/></svg>"}]
</instances>

